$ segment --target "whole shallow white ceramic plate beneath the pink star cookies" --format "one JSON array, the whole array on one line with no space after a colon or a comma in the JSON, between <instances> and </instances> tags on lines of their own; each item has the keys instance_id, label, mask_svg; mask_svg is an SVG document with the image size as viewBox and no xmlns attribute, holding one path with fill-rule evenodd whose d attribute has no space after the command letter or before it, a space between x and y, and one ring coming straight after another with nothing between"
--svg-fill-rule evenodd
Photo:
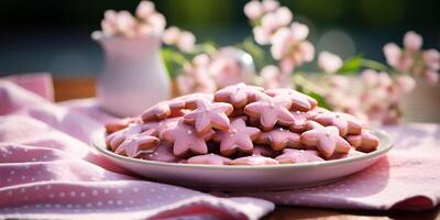
<instances>
[{"instance_id":1,"label":"whole shallow white ceramic plate beneath the pink star cookies","mask_svg":"<svg viewBox=\"0 0 440 220\"><path fill-rule=\"evenodd\" d=\"M360 172L381 158L393 146L384 132L376 151L334 161L270 166L215 166L163 163L130 158L107 150L105 133L94 134L94 145L106 157L147 179L204 190L251 191L280 190L336 182Z\"/></svg>"}]
</instances>

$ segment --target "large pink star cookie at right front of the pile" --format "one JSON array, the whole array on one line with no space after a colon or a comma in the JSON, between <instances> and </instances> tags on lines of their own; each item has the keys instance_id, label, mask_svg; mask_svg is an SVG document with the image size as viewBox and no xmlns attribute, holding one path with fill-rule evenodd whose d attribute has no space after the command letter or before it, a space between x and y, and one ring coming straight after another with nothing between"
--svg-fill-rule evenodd
<instances>
[{"instance_id":1,"label":"large pink star cookie at right front of the pile","mask_svg":"<svg viewBox=\"0 0 440 220\"><path fill-rule=\"evenodd\" d=\"M334 152L348 153L351 148L349 142L339 135L336 127L322 127L306 131L301 134L300 141L306 146L315 146L326 157Z\"/></svg>"}]
</instances>

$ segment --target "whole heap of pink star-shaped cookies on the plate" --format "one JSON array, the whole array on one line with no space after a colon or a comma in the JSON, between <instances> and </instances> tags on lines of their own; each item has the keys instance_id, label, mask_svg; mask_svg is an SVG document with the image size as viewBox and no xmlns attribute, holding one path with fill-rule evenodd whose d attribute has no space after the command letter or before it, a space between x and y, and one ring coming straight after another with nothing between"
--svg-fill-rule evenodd
<instances>
[{"instance_id":1,"label":"whole heap of pink star-shaped cookies on the plate","mask_svg":"<svg viewBox=\"0 0 440 220\"><path fill-rule=\"evenodd\" d=\"M245 84L163 101L106 129L106 144L114 153L169 163L308 163L378 146L378 139L350 114L319 108L293 89Z\"/></svg>"}]
</instances>

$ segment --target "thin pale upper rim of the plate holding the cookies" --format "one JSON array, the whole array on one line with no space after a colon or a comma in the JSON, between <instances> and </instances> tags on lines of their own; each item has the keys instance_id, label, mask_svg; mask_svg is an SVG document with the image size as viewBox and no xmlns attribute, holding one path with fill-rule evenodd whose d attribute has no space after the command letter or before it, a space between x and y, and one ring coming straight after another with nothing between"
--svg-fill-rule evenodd
<instances>
[{"instance_id":1,"label":"thin pale upper rim of the plate holding the cookies","mask_svg":"<svg viewBox=\"0 0 440 220\"><path fill-rule=\"evenodd\" d=\"M378 157L381 155L385 155L389 150L394 146L394 139L387 134L385 131L380 129L372 129L371 132L378 134L380 141L386 142L386 146L378 148L374 152L365 153L363 155L339 158L333 161L323 161L323 162L309 162L309 163L299 163L299 164L277 164L277 165L210 165L210 164L185 164L185 163L168 163L168 162L157 162L157 161L147 161L147 160L139 160L131 158L128 156L122 156L116 154L107 148L105 143L105 130L95 131L91 136L91 145L100 153L106 154L107 156L113 157L116 160L122 160L130 163L141 164L141 165L155 165L155 166L168 166L168 167L187 167L187 168L201 168L201 169L280 169L280 168L314 168L314 167L322 167L322 166L333 166L333 165L342 165L348 163L353 163L355 161L364 161L369 158ZM381 144L381 143L380 143Z\"/></svg>"}]
</instances>

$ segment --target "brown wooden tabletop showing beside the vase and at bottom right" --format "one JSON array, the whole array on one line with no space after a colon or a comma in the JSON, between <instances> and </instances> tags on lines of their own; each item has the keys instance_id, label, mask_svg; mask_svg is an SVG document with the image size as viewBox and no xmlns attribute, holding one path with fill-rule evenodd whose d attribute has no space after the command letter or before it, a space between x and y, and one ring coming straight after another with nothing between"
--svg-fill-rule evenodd
<instances>
[{"instance_id":1,"label":"brown wooden tabletop showing beside the vase and at bottom right","mask_svg":"<svg viewBox=\"0 0 440 220\"><path fill-rule=\"evenodd\" d=\"M95 97L95 78L55 78L55 101L64 101L77 98ZM440 183L439 183L440 184ZM275 211L264 219L440 219L440 206L432 210L410 212L410 211L360 211L360 210L332 210L306 207L277 206Z\"/></svg>"}]
</instances>

